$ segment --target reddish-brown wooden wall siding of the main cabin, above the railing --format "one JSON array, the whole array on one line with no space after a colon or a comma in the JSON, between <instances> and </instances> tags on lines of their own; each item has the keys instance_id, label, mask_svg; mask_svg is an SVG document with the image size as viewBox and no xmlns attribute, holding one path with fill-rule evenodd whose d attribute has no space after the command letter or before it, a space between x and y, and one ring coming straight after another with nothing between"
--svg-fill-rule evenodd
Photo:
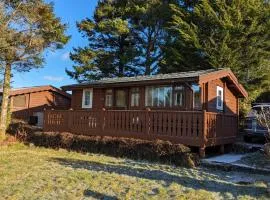
<instances>
[{"instance_id":1,"label":"reddish-brown wooden wall siding of the main cabin, above the railing","mask_svg":"<svg viewBox=\"0 0 270 200\"><path fill-rule=\"evenodd\" d=\"M176 84L171 84L175 86ZM178 110L178 111L192 111L193 109L193 91L191 89L191 83L181 83L180 85L185 86L185 95L184 95L184 106L182 107L150 107L151 110ZM157 84L155 86L160 86ZM238 97L235 93L235 90L230 88L229 82L227 79L216 79L209 82L202 83L201 85L201 110L206 110L207 112L215 113L226 113L226 114L238 114ZM220 86L224 89L224 110L220 111L216 109L216 97L217 97L217 86ZM139 88L140 91L140 105L138 107L131 107L131 88L125 87L108 87L108 88L93 88L93 107L92 109L82 109L82 94L83 89L76 89L72 91L72 109L73 110L101 110L106 108L108 110L145 110L145 88L147 86L134 86ZM115 91L118 89L124 89L127 94L127 106L124 108L118 108L116 106L105 107L105 91L106 89L113 89L115 96ZM174 97L173 97L174 98ZM113 98L115 99L115 98ZM115 105L115 100L113 102Z\"/></svg>"}]
</instances>

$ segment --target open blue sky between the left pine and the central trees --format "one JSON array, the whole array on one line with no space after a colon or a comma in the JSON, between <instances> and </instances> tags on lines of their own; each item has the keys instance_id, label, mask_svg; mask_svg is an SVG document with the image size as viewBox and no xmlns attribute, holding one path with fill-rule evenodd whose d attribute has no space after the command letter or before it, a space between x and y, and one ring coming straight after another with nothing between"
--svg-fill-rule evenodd
<instances>
[{"instance_id":1,"label":"open blue sky between the left pine and the central trees","mask_svg":"<svg viewBox=\"0 0 270 200\"><path fill-rule=\"evenodd\" d=\"M78 32L76 22L91 18L98 0L47 0L55 4L55 14L63 23L68 24L67 34L71 35L69 43L61 50L48 52L46 63L42 68L30 72L16 73L12 78L12 87L29 87L40 85L63 85L76 83L67 76L65 69L72 69L73 62L69 59L69 52L73 47L85 46L86 39Z\"/></svg>"}]
</instances>

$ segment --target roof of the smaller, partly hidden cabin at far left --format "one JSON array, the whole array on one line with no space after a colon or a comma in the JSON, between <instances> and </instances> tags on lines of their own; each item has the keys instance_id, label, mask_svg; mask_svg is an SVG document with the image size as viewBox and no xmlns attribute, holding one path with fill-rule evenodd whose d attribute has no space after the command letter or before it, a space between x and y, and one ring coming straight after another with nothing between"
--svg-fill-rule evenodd
<instances>
[{"instance_id":1,"label":"roof of the smaller, partly hidden cabin at far left","mask_svg":"<svg viewBox=\"0 0 270 200\"><path fill-rule=\"evenodd\" d=\"M12 88L10 91L10 96L16 96L16 95L28 94L28 93L34 93L34 92L42 92L42 91L53 91L67 98L71 98L70 94L52 85ZM0 94L2 93L3 93L3 89L1 88Z\"/></svg>"}]
</instances>

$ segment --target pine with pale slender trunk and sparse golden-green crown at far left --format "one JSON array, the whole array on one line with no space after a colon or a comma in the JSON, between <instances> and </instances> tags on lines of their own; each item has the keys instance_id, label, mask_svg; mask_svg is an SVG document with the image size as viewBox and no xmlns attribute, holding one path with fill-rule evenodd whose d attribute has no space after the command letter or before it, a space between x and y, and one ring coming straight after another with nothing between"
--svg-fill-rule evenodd
<instances>
[{"instance_id":1,"label":"pine with pale slender trunk and sparse golden-green crown at far left","mask_svg":"<svg viewBox=\"0 0 270 200\"><path fill-rule=\"evenodd\" d=\"M68 42L66 26L42 0L3 0L0 4L0 64L4 70L0 116L0 139L6 131L12 71L42 66L46 49L62 48Z\"/></svg>"}]
</instances>

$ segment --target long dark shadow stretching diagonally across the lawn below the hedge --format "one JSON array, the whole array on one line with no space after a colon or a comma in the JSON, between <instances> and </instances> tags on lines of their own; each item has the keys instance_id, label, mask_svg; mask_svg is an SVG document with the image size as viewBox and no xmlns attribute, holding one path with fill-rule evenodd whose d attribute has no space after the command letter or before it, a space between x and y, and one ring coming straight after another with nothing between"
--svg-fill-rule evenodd
<instances>
[{"instance_id":1,"label":"long dark shadow stretching diagonally across the lawn below the hedge","mask_svg":"<svg viewBox=\"0 0 270 200\"><path fill-rule=\"evenodd\" d=\"M206 171L193 172L192 170L181 168L179 174L162 171L160 169L143 169L134 167L135 165L127 162L126 165L105 164L93 161L84 161L77 159L52 158L51 161L57 162L63 166L72 167L73 169L87 169L95 172L116 173L131 177L144 178L155 181L164 181L165 186L171 183L178 183L184 187L195 190L206 190L209 192L220 192L221 194L231 193L234 197L249 195L254 198L265 197L266 189L256 187L255 185L239 185L224 181L224 174L208 173ZM138 166L138 165L137 165ZM151 166L151 165L149 165ZM197 170L197 169L195 169ZM170 170L171 171L171 170ZM215 180L209 179L209 177ZM114 197L113 197L114 198Z\"/></svg>"}]
</instances>

